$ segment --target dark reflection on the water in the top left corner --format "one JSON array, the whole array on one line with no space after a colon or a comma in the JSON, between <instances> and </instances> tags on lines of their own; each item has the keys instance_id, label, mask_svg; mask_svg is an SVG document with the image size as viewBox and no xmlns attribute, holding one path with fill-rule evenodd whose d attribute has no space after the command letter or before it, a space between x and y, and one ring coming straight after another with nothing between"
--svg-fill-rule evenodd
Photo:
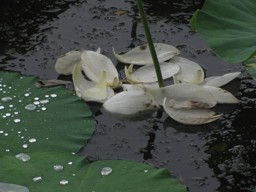
<instances>
[{"instance_id":1,"label":"dark reflection on the water in the top left corner","mask_svg":"<svg viewBox=\"0 0 256 192\"><path fill-rule=\"evenodd\" d=\"M0 55L5 60L14 59L12 53L26 54L36 45L47 41L46 22L57 20L58 14L66 11L74 1L22 1L0 2ZM4 63L4 62L2 62Z\"/></svg>"}]
</instances>

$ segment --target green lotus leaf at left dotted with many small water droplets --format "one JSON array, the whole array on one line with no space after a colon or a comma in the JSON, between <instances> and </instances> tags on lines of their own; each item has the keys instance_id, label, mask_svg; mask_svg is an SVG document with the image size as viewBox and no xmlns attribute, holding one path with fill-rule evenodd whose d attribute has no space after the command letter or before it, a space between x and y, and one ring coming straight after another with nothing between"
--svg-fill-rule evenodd
<instances>
[{"instance_id":1,"label":"green lotus leaf at left dotted with many small water droplets","mask_svg":"<svg viewBox=\"0 0 256 192\"><path fill-rule=\"evenodd\" d=\"M37 150L72 153L86 145L95 122L89 106L75 93L62 86L38 88L39 78L34 76L4 71L0 76L0 155ZM3 101L6 97L12 100ZM36 108L26 110L29 104Z\"/></svg>"}]
</instances>

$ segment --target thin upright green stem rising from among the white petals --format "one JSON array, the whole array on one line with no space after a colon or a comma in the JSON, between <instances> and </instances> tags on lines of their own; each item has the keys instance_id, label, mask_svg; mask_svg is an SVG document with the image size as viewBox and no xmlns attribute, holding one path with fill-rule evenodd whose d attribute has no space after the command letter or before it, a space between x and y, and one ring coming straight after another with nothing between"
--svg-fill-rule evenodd
<instances>
[{"instance_id":1,"label":"thin upright green stem rising from among the white petals","mask_svg":"<svg viewBox=\"0 0 256 192\"><path fill-rule=\"evenodd\" d=\"M162 73L161 73L161 68L160 68L160 65L159 65L159 62L158 62L158 59L157 59L155 46L154 46L150 31L149 31L147 18L146 18L141 0L137 0L137 6L138 6L138 9L139 9L139 12L140 12L140 17L141 17L141 21L142 21L142 24L143 24L145 35L146 35L146 38L147 38L147 42L148 42L149 50L150 50L150 53L151 53L151 57L152 57L153 62L154 62L154 67L155 67L155 70L156 70L158 85L159 85L159 87L164 87L164 81L163 81L163 76L162 76Z\"/></svg>"}]
</instances>

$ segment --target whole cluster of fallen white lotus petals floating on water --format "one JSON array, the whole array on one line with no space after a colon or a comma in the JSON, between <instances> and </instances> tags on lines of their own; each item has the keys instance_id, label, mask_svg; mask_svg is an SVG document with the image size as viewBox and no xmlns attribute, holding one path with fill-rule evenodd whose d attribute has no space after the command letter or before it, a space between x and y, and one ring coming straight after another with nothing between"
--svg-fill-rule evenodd
<instances>
[{"instance_id":1,"label":"whole cluster of fallen white lotus petals floating on water","mask_svg":"<svg viewBox=\"0 0 256 192\"><path fill-rule=\"evenodd\" d=\"M96 52L71 51L62 55L55 63L55 70L64 75L73 74L79 98L103 103L105 110L117 115L129 116L163 106L166 114L175 121L198 125L210 123L222 115L209 109L217 103L239 102L220 86L229 83L241 72L204 78L203 68L196 62L178 57L180 51L174 46L154 45L163 79L172 77L172 85L158 87L147 44L125 54L117 54L113 48L118 61L131 64L129 68L125 66L125 81L119 79L113 62L100 54L100 49ZM133 65L144 66L133 71ZM115 94L113 89L121 87L123 91Z\"/></svg>"}]
</instances>

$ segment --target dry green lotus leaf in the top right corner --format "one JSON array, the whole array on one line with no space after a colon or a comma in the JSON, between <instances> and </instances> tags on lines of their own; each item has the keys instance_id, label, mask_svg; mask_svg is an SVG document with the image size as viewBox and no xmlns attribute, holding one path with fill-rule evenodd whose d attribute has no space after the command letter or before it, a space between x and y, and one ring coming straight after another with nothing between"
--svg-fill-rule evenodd
<instances>
[{"instance_id":1,"label":"dry green lotus leaf in the top right corner","mask_svg":"<svg viewBox=\"0 0 256 192\"><path fill-rule=\"evenodd\" d=\"M255 0L206 0L190 24L220 58L242 62L256 55L255 10Z\"/></svg>"}]
</instances>

